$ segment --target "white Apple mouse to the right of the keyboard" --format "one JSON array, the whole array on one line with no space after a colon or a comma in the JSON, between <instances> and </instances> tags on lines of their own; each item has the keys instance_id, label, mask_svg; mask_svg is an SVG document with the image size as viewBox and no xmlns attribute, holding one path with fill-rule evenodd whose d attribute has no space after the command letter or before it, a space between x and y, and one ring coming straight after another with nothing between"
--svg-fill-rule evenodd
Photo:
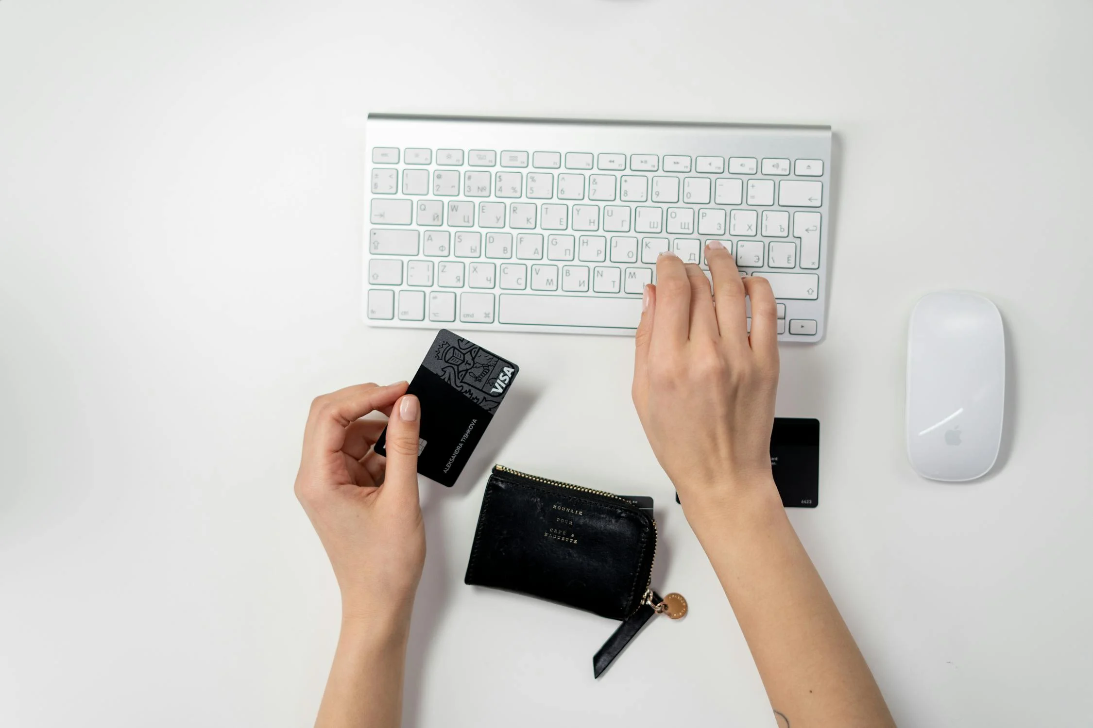
<instances>
[{"instance_id":1,"label":"white Apple mouse to the right of the keyboard","mask_svg":"<svg viewBox=\"0 0 1093 728\"><path fill-rule=\"evenodd\" d=\"M977 294L915 305L907 333L907 456L925 478L959 482L998 460L1006 399L1002 317Z\"/></svg>"}]
</instances>

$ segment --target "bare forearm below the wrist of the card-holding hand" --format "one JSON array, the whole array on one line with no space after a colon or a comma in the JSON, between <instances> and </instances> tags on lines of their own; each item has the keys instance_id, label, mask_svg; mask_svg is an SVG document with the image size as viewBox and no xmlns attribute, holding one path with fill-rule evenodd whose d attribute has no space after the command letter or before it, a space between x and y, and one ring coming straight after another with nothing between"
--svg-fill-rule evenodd
<instances>
[{"instance_id":1,"label":"bare forearm below the wrist of the card-holding hand","mask_svg":"<svg viewBox=\"0 0 1093 728\"><path fill-rule=\"evenodd\" d=\"M409 620L343 621L316 728L398 728Z\"/></svg>"}]
</instances>

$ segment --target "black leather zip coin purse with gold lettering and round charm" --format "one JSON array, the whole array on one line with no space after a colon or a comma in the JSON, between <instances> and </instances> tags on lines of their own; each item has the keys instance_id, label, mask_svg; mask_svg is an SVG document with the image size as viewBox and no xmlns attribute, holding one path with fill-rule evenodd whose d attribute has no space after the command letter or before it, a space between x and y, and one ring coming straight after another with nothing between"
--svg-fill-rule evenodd
<instances>
[{"instance_id":1,"label":"black leather zip coin purse with gold lettering and round charm","mask_svg":"<svg viewBox=\"0 0 1093 728\"><path fill-rule=\"evenodd\" d=\"M650 617L686 612L650 588L656 552L656 521L627 499L497 465L463 581L622 620L592 659L598 678Z\"/></svg>"}]
</instances>

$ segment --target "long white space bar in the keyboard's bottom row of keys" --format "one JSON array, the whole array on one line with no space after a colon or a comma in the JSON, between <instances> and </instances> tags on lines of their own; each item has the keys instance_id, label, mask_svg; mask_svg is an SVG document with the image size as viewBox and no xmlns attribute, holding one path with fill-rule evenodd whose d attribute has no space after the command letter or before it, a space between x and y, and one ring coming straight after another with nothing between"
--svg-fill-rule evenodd
<instances>
[{"instance_id":1,"label":"long white space bar in the keyboard's bottom row of keys","mask_svg":"<svg viewBox=\"0 0 1093 728\"><path fill-rule=\"evenodd\" d=\"M498 298L497 323L637 329L642 319L640 298L528 294L502 294Z\"/></svg>"}]
</instances>

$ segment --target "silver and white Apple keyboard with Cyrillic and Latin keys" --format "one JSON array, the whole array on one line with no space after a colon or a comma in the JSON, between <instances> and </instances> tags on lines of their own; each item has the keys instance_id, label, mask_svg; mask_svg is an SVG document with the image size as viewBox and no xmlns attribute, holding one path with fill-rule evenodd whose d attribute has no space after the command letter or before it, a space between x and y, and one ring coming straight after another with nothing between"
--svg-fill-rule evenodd
<instances>
[{"instance_id":1,"label":"silver and white Apple keyboard with Cyrillic and Latin keys","mask_svg":"<svg viewBox=\"0 0 1093 728\"><path fill-rule=\"evenodd\" d=\"M771 282L780 341L823 337L828 127L373 114L366 134L371 325L632 334L657 255L705 267L720 240Z\"/></svg>"}]
</instances>

